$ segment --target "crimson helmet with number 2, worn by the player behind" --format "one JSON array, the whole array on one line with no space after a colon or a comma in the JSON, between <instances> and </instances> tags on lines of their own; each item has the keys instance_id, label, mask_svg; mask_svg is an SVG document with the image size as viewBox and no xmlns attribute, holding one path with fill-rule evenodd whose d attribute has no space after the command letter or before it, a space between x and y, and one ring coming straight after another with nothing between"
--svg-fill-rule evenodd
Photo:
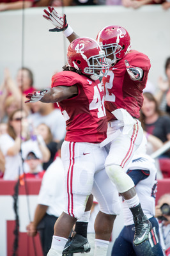
<instances>
[{"instance_id":1,"label":"crimson helmet with number 2, worn by the player behind","mask_svg":"<svg viewBox=\"0 0 170 256\"><path fill-rule=\"evenodd\" d=\"M105 51L106 57L112 54L112 60L107 59L112 65L123 58L131 46L130 35L121 26L107 26L101 29L97 35L97 42Z\"/></svg>"}]
</instances>

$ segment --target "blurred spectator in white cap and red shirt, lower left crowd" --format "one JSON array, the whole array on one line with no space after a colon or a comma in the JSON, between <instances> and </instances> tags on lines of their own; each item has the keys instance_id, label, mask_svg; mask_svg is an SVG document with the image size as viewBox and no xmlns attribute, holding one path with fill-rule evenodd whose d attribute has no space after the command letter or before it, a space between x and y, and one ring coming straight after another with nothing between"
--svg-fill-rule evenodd
<instances>
[{"instance_id":1,"label":"blurred spectator in white cap and red shirt, lower left crowd","mask_svg":"<svg viewBox=\"0 0 170 256\"><path fill-rule=\"evenodd\" d=\"M42 164L42 161L40 159L40 156L38 156L38 153L35 152L34 149L27 154L26 159L24 161L29 166L29 170L27 173L24 172L22 175L20 175L20 179L23 179L23 178L42 179L45 171L40 171L39 166L40 164Z\"/></svg>"}]
</instances>

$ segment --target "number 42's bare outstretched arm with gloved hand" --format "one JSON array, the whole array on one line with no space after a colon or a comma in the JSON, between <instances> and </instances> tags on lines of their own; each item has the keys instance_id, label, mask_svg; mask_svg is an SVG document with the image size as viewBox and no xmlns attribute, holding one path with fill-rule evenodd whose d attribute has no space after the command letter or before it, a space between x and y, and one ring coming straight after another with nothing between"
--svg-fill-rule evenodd
<instances>
[{"instance_id":1,"label":"number 42's bare outstretched arm with gloved hand","mask_svg":"<svg viewBox=\"0 0 170 256\"><path fill-rule=\"evenodd\" d=\"M45 88L40 92L28 93L25 103L41 101L45 103L60 102L61 100L69 99L78 94L78 88L73 86L58 86L53 88Z\"/></svg>"}]
</instances>

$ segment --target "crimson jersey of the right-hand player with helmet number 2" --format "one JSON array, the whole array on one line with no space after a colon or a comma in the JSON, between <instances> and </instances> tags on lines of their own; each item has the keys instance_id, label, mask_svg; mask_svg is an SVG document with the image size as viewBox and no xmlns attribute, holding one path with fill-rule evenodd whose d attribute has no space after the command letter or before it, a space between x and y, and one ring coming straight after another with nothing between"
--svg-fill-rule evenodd
<instances>
[{"instance_id":1,"label":"crimson jersey of the right-hand player with helmet number 2","mask_svg":"<svg viewBox=\"0 0 170 256\"><path fill-rule=\"evenodd\" d=\"M142 81L133 81L127 72L125 60L129 65L143 69ZM135 118L139 118L139 110L143 106L143 89L146 86L150 70L148 56L138 51L128 52L114 67L109 69L102 81L105 90L105 111L107 121L115 120L112 111L123 108Z\"/></svg>"}]
</instances>

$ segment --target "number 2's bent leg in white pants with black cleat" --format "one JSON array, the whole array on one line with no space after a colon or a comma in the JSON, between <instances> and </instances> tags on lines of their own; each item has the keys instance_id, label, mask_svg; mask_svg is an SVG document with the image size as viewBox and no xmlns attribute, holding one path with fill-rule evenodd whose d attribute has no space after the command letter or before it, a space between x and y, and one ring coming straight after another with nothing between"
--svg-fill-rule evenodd
<instances>
[{"instance_id":1,"label":"number 2's bent leg in white pants with black cleat","mask_svg":"<svg viewBox=\"0 0 170 256\"><path fill-rule=\"evenodd\" d=\"M151 223L143 213L139 198L135 192L134 182L125 173L124 168L130 162L135 150L137 150L143 141L143 129L141 128L140 122L136 120L132 129L127 134L123 134L123 128L120 130L121 134L111 143L109 155L105 161L105 170L112 182L116 184L118 192L126 200L134 216L134 244L137 245L148 239ZM109 132L114 132L113 127L109 129Z\"/></svg>"}]
</instances>

